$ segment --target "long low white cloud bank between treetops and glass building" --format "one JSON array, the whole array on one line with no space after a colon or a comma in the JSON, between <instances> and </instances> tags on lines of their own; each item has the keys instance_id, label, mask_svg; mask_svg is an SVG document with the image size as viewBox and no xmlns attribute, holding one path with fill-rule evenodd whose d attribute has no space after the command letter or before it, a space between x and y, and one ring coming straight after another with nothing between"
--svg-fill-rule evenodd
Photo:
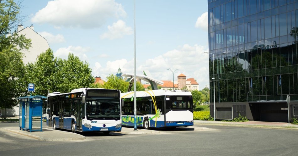
<instances>
[{"instance_id":1,"label":"long low white cloud bank between treetops and glass building","mask_svg":"<svg viewBox=\"0 0 298 156\"><path fill-rule=\"evenodd\" d=\"M200 90L207 85L209 87L209 55L204 53L208 51L207 46L188 44L178 47L177 49L168 51L155 58L148 58L144 62L137 60L136 74L142 75L142 71L149 71L152 78L157 80L173 80L173 74L168 71L168 68L173 70L178 69L174 73L174 79L177 81L177 76L181 73L186 75L186 78L194 78L200 84ZM93 75L101 76L103 79L110 74L116 74L118 68L121 68L122 73L133 74L133 59L108 61L106 66L101 66L98 62L93 67ZM149 74L148 72L146 72Z\"/></svg>"}]
</instances>

